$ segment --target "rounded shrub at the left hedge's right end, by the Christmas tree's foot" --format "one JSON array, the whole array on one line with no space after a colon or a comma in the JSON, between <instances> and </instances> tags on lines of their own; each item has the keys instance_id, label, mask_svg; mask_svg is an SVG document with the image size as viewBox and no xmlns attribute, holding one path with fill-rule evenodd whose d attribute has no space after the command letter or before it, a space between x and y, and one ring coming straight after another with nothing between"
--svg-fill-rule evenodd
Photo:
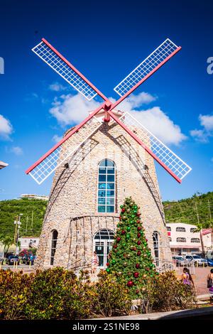
<instances>
[{"instance_id":1,"label":"rounded shrub at the left hedge's right end, by the Christmas tree's foot","mask_svg":"<svg viewBox=\"0 0 213 334\"><path fill-rule=\"evenodd\" d=\"M100 271L97 291L97 305L95 311L102 316L117 316L128 314L131 308L131 297L125 283L118 283L113 274Z\"/></svg>"}]
</instances>

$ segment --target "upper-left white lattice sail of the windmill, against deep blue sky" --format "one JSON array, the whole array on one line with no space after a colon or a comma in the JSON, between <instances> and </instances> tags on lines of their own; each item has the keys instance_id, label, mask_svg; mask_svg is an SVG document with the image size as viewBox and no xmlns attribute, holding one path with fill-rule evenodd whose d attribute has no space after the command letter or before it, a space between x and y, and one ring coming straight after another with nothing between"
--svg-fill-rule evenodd
<instances>
[{"instance_id":1,"label":"upper-left white lattice sail of the windmill, against deep blue sky","mask_svg":"<svg viewBox=\"0 0 213 334\"><path fill-rule=\"evenodd\" d=\"M40 42L32 48L32 51L86 99L91 100L97 95L97 92L74 70L74 67L62 60L55 50L52 50L46 43Z\"/></svg>"}]
</instances>

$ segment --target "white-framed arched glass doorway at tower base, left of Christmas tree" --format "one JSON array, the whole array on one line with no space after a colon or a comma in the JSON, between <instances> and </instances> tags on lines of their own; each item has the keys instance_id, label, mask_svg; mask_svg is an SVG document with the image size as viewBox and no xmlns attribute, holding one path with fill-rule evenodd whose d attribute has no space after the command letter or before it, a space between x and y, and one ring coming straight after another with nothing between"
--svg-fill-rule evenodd
<instances>
[{"instance_id":1,"label":"white-framed arched glass doorway at tower base, left of Christmas tree","mask_svg":"<svg viewBox=\"0 0 213 334\"><path fill-rule=\"evenodd\" d=\"M112 247L114 232L111 230L99 230L94 235L94 251L99 258L99 268L104 269L107 266L109 251Z\"/></svg>"}]
</instances>

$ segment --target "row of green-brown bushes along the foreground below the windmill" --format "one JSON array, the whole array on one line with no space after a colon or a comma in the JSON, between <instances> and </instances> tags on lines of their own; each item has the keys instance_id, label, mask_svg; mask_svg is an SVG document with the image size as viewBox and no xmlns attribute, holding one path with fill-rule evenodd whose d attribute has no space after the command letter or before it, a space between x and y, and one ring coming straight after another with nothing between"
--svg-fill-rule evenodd
<instances>
[{"instance_id":1,"label":"row of green-brown bushes along the foreground below the windmill","mask_svg":"<svg viewBox=\"0 0 213 334\"><path fill-rule=\"evenodd\" d=\"M195 293L173 271L149 277L139 293L141 311L171 311L193 306ZM60 267L23 274L0 271L0 319L80 319L129 314L131 294L125 282L100 271L96 284L89 272Z\"/></svg>"}]
</instances>

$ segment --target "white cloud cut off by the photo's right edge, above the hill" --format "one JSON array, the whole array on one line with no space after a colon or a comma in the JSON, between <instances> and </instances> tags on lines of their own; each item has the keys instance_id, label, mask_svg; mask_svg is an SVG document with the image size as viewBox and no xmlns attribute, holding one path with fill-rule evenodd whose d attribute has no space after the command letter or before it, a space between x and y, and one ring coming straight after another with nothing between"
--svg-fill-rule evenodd
<instances>
[{"instance_id":1,"label":"white cloud cut off by the photo's right edge, above the hill","mask_svg":"<svg viewBox=\"0 0 213 334\"><path fill-rule=\"evenodd\" d=\"M190 134L195 138L196 141L200 141L201 143L208 143L209 137L213 136L213 115L200 114L198 119L202 129L191 130Z\"/></svg>"}]
</instances>

